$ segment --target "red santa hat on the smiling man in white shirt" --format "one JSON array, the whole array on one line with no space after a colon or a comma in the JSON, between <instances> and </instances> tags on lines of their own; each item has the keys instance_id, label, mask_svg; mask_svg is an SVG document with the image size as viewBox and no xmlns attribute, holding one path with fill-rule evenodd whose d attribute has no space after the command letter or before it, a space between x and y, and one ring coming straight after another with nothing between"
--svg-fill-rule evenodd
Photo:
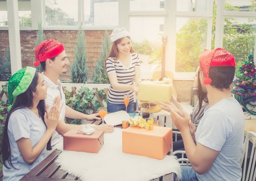
<instances>
[{"instance_id":1,"label":"red santa hat on the smiling man in white shirt","mask_svg":"<svg viewBox=\"0 0 256 181\"><path fill-rule=\"evenodd\" d=\"M35 49L34 66L38 66L40 62L46 61L47 58L53 58L64 51L63 45L55 39L44 40L38 44Z\"/></svg>"}]
</instances>

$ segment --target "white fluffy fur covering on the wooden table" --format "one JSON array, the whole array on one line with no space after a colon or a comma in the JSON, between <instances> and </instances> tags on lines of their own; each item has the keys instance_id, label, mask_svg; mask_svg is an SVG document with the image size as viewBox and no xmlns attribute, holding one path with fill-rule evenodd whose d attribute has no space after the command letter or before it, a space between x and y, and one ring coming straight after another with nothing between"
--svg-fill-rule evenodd
<instances>
[{"instance_id":1,"label":"white fluffy fur covering on the wooden table","mask_svg":"<svg viewBox=\"0 0 256 181\"><path fill-rule=\"evenodd\" d=\"M180 165L174 156L167 155L158 160L123 153L120 128L104 134L104 143L98 154L63 150L56 162L61 169L87 181L150 180L171 172L178 177L181 175Z\"/></svg>"}]
</instances>

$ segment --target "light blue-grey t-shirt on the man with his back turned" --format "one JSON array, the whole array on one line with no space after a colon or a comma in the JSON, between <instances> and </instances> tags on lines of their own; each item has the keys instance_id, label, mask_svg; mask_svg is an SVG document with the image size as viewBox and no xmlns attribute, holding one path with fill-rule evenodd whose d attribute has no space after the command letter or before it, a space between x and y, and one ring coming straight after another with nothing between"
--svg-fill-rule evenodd
<instances>
[{"instance_id":1,"label":"light blue-grey t-shirt on the man with his back turned","mask_svg":"<svg viewBox=\"0 0 256 181\"><path fill-rule=\"evenodd\" d=\"M219 152L199 180L241 180L245 117L235 98L225 98L205 111L196 130L196 142Z\"/></svg>"}]
</instances>

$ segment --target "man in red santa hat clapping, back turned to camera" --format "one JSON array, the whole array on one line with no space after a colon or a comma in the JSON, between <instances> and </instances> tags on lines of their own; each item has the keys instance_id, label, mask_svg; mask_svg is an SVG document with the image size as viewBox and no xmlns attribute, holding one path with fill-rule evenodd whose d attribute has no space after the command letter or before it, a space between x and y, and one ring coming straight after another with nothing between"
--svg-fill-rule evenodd
<instances>
[{"instance_id":1,"label":"man in red santa hat clapping, back turned to camera","mask_svg":"<svg viewBox=\"0 0 256 181\"><path fill-rule=\"evenodd\" d=\"M235 58L222 48L204 50L199 64L198 87L207 93L209 107L196 132L189 115L176 108L170 109L192 165L182 167L182 180L241 180L245 117L230 92ZM199 102L200 97L198 95Z\"/></svg>"}]
</instances>

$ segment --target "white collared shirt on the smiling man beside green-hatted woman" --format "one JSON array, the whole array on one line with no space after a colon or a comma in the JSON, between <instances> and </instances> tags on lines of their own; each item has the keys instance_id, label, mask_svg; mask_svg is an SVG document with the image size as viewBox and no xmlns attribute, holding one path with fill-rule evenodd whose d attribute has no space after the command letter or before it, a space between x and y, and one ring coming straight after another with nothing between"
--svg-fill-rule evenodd
<instances>
[{"instance_id":1,"label":"white collared shirt on the smiling man beside green-hatted woman","mask_svg":"<svg viewBox=\"0 0 256 181\"><path fill-rule=\"evenodd\" d=\"M52 103L55 97L60 96L61 98L61 104L63 104L63 107L59 116L59 121L60 121L61 119L65 118L65 104L66 104L65 94L63 93L61 82L60 80L58 80L58 85L56 85L43 73L44 72L42 72L42 76L44 77L45 83L48 85L47 97L45 99L45 103L46 105L49 106L49 110L52 106ZM51 137L51 146L56 145L60 140L61 140L61 135L57 131L55 131Z\"/></svg>"}]
</instances>

